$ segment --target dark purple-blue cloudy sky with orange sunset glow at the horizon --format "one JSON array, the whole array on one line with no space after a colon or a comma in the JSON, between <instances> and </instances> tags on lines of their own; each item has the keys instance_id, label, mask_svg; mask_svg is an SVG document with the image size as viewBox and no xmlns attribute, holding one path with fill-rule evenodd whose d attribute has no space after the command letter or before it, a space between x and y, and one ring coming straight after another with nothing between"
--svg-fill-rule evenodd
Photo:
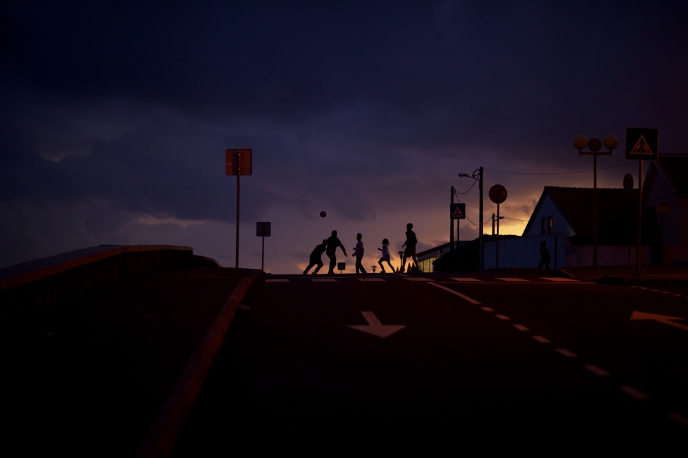
<instances>
[{"instance_id":1,"label":"dark purple-blue cloudy sky with orange sunset glow at the horizon","mask_svg":"<svg viewBox=\"0 0 688 458\"><path fill-rule=\"evenodd\" d=\"M451 186L474 239L458 173L480 166L508 190L500 233L520 235L544 186L592 187L578 134L619 138L600 187L638 182L627 127L688 153L682 2L59 3L0 7L0 266L153 243L234 267L228 148L253 156L240 267L261 267L270 221L273 273L301 272L332 230L349 254L363 233L364 265L407 222L419 250L445 243Z\"/></svg>"}]
</instances>

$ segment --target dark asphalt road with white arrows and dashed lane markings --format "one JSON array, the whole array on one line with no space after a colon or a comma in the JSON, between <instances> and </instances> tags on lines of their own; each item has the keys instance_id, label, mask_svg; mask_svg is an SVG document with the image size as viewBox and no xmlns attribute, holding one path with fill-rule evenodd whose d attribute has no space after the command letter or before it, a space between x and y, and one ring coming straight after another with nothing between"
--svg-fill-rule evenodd
<instances>
[{"instance_id":1,"label":"dark asphalt road with white arrows and dashed lane markings","mask_svg":"<svg viewBox=\"0 0 688 458\"><path fill-rule=\"evenodd\" d=\"M497 275L265 276L175 455L686 444L681 292Z\"/></svg>"}]
</instances>

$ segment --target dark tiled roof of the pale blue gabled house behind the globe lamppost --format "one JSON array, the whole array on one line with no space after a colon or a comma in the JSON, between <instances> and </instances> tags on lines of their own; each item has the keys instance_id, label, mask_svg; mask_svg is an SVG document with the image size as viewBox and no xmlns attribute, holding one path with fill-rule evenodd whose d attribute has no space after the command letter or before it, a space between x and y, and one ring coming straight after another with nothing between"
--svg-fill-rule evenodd
<instances>
[{"instance_id":1,"label":"dark tiled roof of the pale blue gabled house behind the globe lamppost","mask_svg":"<svg viewBox=\"0 0 688 458\"><path fill-rule=\"evenodd\" d=\"M594 232L594 188L559 186L545 186L524 233L533 224L533 217L537 215L546 196L549 196L559 208L559 212L566 218L576 235L592 235ZM637 196L637 189L628 191L621 188L597 188L598 228L603 228L618 219L623 212L627 211L630 202L637 201Z\"/></svg>"}]
</instances>

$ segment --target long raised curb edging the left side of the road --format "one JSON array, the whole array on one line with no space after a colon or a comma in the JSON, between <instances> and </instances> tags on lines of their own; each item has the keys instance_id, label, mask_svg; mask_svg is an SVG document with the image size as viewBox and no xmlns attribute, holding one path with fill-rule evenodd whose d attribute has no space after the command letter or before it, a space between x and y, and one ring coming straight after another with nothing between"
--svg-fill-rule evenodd
<instances>
[{"instance_id":1,"label":"long raised curb edging the left side of the road","mask_svg":"<svg viewBox=\"0 0 688 458\"><path fill-rule=\"evenodd\" d=\"M153 423L142 446L136 453L140 458L169 457L174 450L184 419L191 411L200 393L203 382L210 371L219 348L222 347L227 331L253 283L264 272L255 270L244 277L230 294L219 316L208 330L205 338L191 357L171 394L167 398L158 418Z\"/></svg>"}]
</instances>

